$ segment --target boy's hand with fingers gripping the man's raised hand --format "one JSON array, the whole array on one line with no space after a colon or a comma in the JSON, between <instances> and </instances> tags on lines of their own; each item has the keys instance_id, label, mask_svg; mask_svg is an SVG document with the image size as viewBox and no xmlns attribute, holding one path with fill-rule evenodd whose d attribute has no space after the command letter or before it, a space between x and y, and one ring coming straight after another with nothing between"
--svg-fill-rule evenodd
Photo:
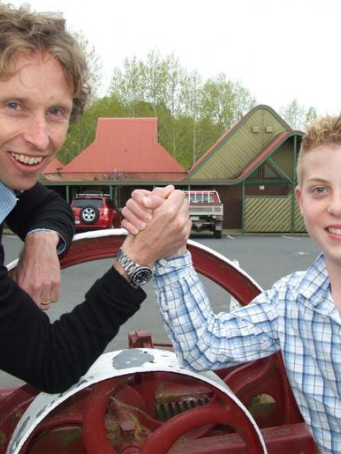
<instances>
[{"instance_id":1,"label":"boy's hand with fingers gripping the man's raised hand","mask_svg":"<svg viewBox=\"0 0 341 454\"><path fill-rule=\"evenodd\" d=\"M122 227L130 234L137 235L151 222L153 210L164 203L166 198L175 190L173 185L165 188L155 188L153 191L137 189L131 193L131 198L122 209Z\"/></svg>"}]
</instances>

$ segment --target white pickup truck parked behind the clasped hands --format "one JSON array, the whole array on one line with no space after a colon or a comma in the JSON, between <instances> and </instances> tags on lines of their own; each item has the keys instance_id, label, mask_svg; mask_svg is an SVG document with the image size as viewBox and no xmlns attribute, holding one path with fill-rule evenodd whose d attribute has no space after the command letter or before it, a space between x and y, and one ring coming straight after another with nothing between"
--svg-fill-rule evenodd
<instances>
[{"instance_id":1,"label":"white pickup truck parked behind the clasped hands","mask_svg":"<svg viewBox=\"0 0 341 454\"><path fill-rule=\"evenodd\" d=\"M192 230L209 230L214 238L223 231L223 204L217 191L184 191L190 202Z\"/></svg>"}]
</instances>

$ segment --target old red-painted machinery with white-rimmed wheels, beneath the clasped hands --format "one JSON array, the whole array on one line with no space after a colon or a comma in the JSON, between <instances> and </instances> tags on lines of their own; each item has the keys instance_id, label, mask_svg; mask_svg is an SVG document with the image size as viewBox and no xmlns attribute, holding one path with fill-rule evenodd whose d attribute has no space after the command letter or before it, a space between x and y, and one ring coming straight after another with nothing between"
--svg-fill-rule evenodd
<instances>
[{"instance_id":1,"label":"old red-painted machinery with white-rimmed wheels, beneath the clasped hands","mask_svg":"<svg viewBox=\"0 0 341 454\"><path fill-rule=\"evenodd\" d=\"M117 230L79 234L61 266L112 258L123 238ZM192 241L188 248L197 271L241 304L259 293L223 256ZM281 354L199 374L148 332L130 333L129 348L102 355L63 394L0 390L0 453L318 453Z\"/></svg>"}]
</instances>

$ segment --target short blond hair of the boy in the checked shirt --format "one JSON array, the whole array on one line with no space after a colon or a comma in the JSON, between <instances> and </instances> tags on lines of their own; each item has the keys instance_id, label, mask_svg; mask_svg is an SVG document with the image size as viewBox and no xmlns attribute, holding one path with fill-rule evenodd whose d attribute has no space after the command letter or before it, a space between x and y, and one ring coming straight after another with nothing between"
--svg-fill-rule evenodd
<instances>
[{"instance_id":1,"label":"short blond hair of the boy in the checked shirt","mask_svg":"<svg viewBox=\"0 0 341 454\"><path fill-rule=\"evenodd\" d=\"M309 150L324 144L341 144L341 115L320 117L308 127L300 144L300 154L297 160L298 185L301 185L303 180L303 158Z\"/></svg>"}]
</instances>

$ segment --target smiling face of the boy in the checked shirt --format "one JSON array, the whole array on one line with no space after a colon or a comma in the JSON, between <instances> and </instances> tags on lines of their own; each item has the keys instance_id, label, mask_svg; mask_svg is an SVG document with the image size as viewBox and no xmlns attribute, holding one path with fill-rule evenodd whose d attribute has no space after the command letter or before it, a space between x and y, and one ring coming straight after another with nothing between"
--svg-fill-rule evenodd
<instances>
[{"instance_id":1,"label":"smiling face of the boy in the checked shirt","mask_svg":"<svg viewBox=\"0 0 341 454\"><path fill-rule=\"evenodd\" d=\"M341 144L307 152L296 196L307 231L325 253L327 264L341 266Z\"/></svg>"}]
</instances>

